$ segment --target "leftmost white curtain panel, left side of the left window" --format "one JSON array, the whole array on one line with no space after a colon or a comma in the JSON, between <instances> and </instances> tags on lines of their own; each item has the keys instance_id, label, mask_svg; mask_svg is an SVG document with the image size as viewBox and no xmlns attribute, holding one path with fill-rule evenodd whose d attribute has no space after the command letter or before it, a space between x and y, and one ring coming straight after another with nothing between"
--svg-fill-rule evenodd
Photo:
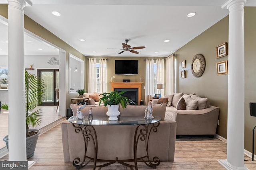
<instances>
[{"instance_id":1,"label":"leftmost white curtain panel, left side of the left window","mask_svg":"<svg viewBox=\"0 0 256 170\"><path fill-rule=\"evenodd\" d=\"M97 67L96 59L89 59L89 79L88 79L88 93L97 91Z\"/></svg>"}]
</instances>

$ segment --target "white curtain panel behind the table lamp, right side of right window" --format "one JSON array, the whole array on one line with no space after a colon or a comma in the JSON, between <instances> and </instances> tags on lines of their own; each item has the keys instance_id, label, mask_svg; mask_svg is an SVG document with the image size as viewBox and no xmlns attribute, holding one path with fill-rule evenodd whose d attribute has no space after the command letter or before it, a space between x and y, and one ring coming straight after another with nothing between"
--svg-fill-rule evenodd
<instances>
[{"instance_id":1,"label":"white curtain panel behind the table lamp, right side of right window","mask_svg":"<svg viewBox=\"0 0 256 170\"><path fill-rule=\"evenodd\" d=\"M156 84L164 84L164 79L164 59L156 59ZM164 96L164 89L161 90L161 96Z\"/></svg>"}]
</instances>

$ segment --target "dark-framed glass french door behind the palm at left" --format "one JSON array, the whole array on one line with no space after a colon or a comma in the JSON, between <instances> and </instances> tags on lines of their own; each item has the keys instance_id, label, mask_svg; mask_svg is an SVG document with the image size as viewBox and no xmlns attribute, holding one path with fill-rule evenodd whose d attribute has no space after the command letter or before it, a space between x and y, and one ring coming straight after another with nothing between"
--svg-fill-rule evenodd
<instances>
[{"instance_id":1,"label":"dark-framed glass french door behind the palm at left","mask_svg":"<svg viewBox=\"0 0 256 170\"><path fill-rule=\"evenodd\" d=\"M46 83L46 93L40 105L57 105L55 88L59 88L59 69L38 69L37 74Z\"/></svg>"}]
</instances>

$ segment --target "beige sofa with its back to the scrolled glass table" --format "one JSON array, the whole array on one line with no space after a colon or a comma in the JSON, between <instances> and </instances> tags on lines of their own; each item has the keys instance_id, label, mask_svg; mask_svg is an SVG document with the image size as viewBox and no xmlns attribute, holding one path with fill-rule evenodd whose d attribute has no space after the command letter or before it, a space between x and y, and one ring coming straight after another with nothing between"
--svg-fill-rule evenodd
<instances>
[{"instance_id":1,"label":"beige sofa with its back to the scrolled glass table","mask_svg":"<svg viewBox=\"0 0 256 170\"><path fill-rule=\"evenodd\" d=\"M70 104L73 114L76 115L78 105ZM88 116L90 107L92 114L106 115L105 106L86 106L82 109L84 116ZM141 115L144 117L147 106L128 105L126 109L119 107L120 116ZM161 117L160 125L155 133L150 134L149 156L152 161L153 156L157 156L160 161L173 161L176 122L172 120L164 121L166 103L153 106L153 115ZM98 159L119 160L133 158L133 138L137 125L95 125L94 128L98 138ZM68 120L61 124L62 143L64 161L73 162L74 158L84 156L84 139L81 133L75 133L75 128ZM93 157L93 149L88 146L87 155ZM146 155L144 143L138 146L137 157Z\"/></svg>"}]
</instances>

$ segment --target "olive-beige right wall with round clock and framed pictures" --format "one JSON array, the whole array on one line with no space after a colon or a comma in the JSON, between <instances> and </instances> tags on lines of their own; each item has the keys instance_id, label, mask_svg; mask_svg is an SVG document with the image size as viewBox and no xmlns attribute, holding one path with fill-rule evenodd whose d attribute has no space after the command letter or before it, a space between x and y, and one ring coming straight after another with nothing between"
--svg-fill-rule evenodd
<instances>
[{"instance_id":1,"label":"olive-beige right wall with round clock and framed pictures","mask_svg":"<svg viewBox=\"0 0 256 170\"><path fill-rule=\"evenodd\" d=\"M252 152L252 129L256 117L251 117L249 102L256 102L256 8L245 7L245 149ZM216 46L228 42L228 16L198 35L175 53L178 62L178 92L195 93L207 97L210 104L220 107L217 134L227 138L228 74L217 75L216 63L228 60L225 56L216 58ZM202 54L206 60L204 74L196 78L191 72L194 55ZM186 68L181 61L186 60ZM238 68L239 69L239 68ZM180 71L186 70L186 78L180 78ZM241 89L242 90L242 89Z\"/></svg>"}]
</instances>

